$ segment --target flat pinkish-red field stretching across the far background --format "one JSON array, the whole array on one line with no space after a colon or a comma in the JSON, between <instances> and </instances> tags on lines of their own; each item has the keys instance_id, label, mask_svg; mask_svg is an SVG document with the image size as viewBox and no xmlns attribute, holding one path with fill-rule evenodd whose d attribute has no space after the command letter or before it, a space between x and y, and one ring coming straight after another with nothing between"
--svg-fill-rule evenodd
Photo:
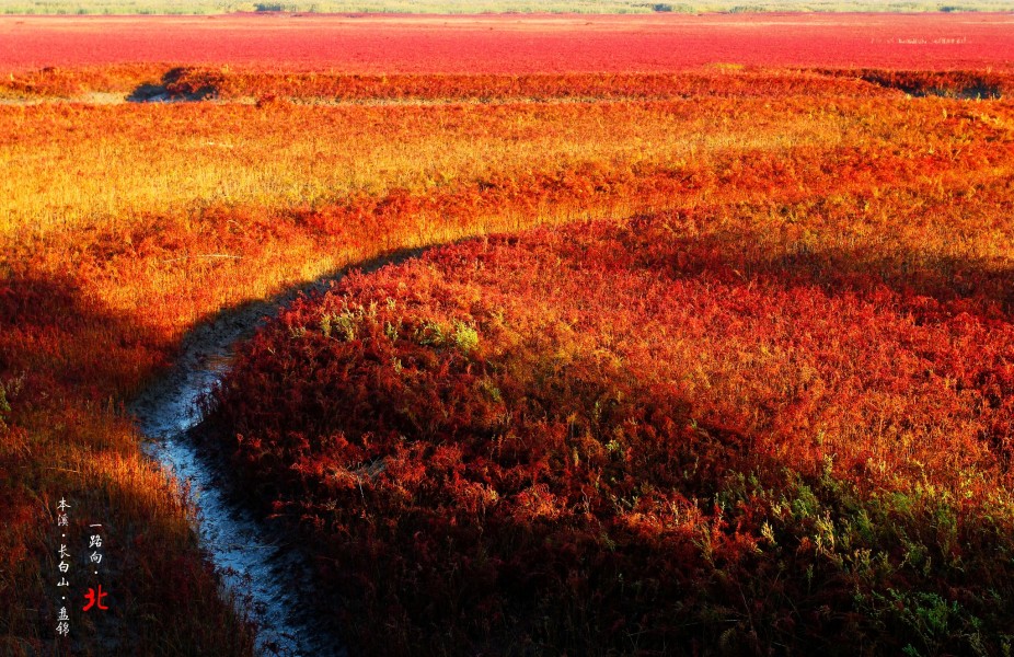
<instances>
[{"instance_id":1,"label":"flat pinkish-red field stretching across the far background","mask_svg":"<svg viewBox=\"0 0 1014 657\"><path fill-rule=\"evenodd\" d=\"M345 73L673 72L710 64L1014 66L1014 14L0 16L0 67Z\"/></svg>"}]
</instances>

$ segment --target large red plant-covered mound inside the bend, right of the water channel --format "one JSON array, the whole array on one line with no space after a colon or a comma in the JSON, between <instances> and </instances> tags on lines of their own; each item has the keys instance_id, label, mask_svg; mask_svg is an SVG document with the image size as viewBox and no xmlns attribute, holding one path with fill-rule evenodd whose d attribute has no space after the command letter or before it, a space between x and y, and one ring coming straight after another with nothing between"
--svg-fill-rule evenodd
<instances>
[{"instance_id":1,"label":"large red plant-covered mound inside the bend, right of the water channel","mask_svg":"<svg viewBox=\"0 0 1014 657\"><path fill-rule=\"evenodd\" d=\"M865 200L352 276L240 349L209 427L364 654L999 650L1011 269L955 289Z\"/></svg>"}]
</instances>

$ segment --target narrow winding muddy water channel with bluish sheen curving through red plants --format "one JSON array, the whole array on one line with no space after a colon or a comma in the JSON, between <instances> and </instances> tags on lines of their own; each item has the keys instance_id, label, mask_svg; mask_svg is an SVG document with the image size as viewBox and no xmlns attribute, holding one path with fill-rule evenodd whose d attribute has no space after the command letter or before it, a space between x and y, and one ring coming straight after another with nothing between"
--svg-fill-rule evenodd
<instances>
[{"instance_id":1,"label":"narrow winding muddy water channel with bluish sheen curving through red plants","mask_svg":"<svg viewBox=\"0 0 1014 657\"><path fill-rule=\"evenodd\" d=\"M418 251L372 261L364 269L400 262ZM247 509L227 494L222 466L198 450L191 431L200 424L197 406L228 368L232 348L253 335L299 292L326 289L342 274L327 276L267 301L223 311L186 335L173 367L130 405L146 441L143 451L173 475L181 495L196 499L196 531L221 574L238 609L257 623L257 650L264 655L345 655L339 641L312 622L310 569L304 560L273 535Z\"/></svg>"}]
</instances>

